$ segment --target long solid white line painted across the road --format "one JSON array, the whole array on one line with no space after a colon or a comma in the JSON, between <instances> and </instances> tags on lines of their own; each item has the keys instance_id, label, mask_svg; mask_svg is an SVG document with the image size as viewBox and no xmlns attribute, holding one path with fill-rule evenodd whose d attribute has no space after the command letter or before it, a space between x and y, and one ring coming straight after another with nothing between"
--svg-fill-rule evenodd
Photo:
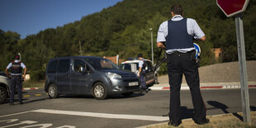
<instances>
[{"instance_id":1,"label":"long solid white line painted across the road","mask_svg":"<svg viewBox=\"0 0 256 128\"><path fill-rule=\"evenodd\" d=\"M130 119L130 120L142 120L142 121L168 121L168 117L164 116L140 116L140 115L126 115L126 114L107 114L107 113L95 113L95 112L83 112L83 111L59 111L50 109L38 109L31 112L41 112L50 114L61 114L71 116L92 116L99 118L111 118L111 119Z\"/></svg>"}]
</instances>

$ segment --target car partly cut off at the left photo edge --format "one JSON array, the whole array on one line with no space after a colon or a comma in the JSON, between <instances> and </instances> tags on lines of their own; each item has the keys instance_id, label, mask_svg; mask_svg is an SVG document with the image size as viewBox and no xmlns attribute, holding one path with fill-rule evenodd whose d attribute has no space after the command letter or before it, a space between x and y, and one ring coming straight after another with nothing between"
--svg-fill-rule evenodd
<instances>
[{"instance_id":1,"label":"car partly cut off at the left photo edge","mask_svg":"<svg viewBox=\"0 0 256 128\"><path fill-rule=\"evenodd\" d=\"M10 79L6 77L6 74L0 72L0 104L6 102L7 97L9 97L9 82Z\"/></svg>"}]
</instances>

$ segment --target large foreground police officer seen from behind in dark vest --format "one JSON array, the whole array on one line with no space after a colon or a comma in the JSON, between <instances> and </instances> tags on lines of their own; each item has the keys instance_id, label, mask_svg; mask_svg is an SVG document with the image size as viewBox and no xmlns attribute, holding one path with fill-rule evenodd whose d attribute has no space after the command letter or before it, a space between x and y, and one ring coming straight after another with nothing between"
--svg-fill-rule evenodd
<instances>
[{"instance_id":1,"label":"large foreground police officer seen from behind in dark vest","mask_svg":"<svg viewBox=\"0 0 256 128\"><path fill-rule=\"evenodd\" d=\"M170 126L179 126L181 120L180 88L185 75L192 95L194 107L193 121L198 125L209 122L206 119L206 107L201 97L199 73L195 62L193 39L206 40L206 36L191 18L183 18L183 7L179 4L171 7L172 19L159 26L157 46L166 50L168 55L168 78L170 84ZM166 45L164 45L166 42Z\"/></svg>"}]
</instances>

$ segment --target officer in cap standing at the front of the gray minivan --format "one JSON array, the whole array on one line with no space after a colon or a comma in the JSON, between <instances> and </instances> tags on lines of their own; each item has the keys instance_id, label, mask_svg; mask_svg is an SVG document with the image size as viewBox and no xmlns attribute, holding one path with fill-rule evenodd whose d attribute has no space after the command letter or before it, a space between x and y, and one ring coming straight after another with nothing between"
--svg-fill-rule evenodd
<instances>
[{"instance_id":1,"label":"officer in cap standing at the front of the gray minivan","mask_svg":"<svg viewBox=\"0 0 256 128\"><path fill-rule=\"evenodd\" d=\"M144 63L144 59L143 59L143 55L140 53L138 55L138 59L140 59L139 61L139 78L140 78L140 85L141 85L141 89L142 92L148 92L146 83L145 83L145 63Z\"/></svg>"}]
</instances>

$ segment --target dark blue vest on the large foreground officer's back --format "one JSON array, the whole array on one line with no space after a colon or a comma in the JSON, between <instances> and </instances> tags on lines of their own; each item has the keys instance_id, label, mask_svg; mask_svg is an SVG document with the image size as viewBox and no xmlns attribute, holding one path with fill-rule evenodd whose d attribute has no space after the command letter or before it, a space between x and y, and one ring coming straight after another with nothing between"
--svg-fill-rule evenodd
<instances>
[{"instance_id":1,"label":"dark blue vest on the large foreground officer's back","mask_svg":"<svg viewBox=\"0 0 256 128\"><path fill-rule=\"evenodd\" d=\"M166 37L166 49L192 48L193 36L187 33L187 18L180 21L168 21L168 36Z\"/></svg>"}]
</instances>

